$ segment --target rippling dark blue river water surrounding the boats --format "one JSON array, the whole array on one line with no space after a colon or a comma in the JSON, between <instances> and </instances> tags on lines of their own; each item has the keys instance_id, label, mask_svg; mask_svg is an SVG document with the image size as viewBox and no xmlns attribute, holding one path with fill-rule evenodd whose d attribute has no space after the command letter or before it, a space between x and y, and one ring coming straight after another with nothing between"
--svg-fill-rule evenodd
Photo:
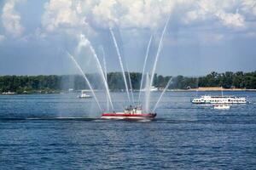
<instances>
[{"instance_id":1,"label":"rippling dark blue river water surrounding the boats","mask_svg":"<svg viewBox=\"0 0 256 170\"><path fill-rule=\"evenodd\" d=\"M0 96L0 169L255 169L256 93L225 94L251 104L217 111L168 92L154 121L128 122L99 119L76 94ZM124 96L113 94L117 110Z\"/></svg>"}]
</instances>

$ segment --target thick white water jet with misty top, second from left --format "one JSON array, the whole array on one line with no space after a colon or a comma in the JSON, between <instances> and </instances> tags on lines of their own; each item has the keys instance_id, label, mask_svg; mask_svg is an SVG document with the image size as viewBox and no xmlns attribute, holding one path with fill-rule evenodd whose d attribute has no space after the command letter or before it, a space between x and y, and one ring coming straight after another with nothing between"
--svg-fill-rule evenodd
<instances>
[{"instance_id":1,"label":"thick white water jet with misty top, second from left","mask_svg":"<svg viewBox=\"0 0 256 170\"><path fill-rule=\"evenodd\" d=\"M105 86L107 94L108 94L108 100L109 100L109 103L110 103L111 108L113 110L112 99L111 99L111 96L110 96L110 93L109 93L109 89L108 89L108 82L105 79L105 74L104 74L104 72L102 70L102 65L100 63L100 60L99 60L96 52L95 52L95 49L91 46L90 41L84 38L84 35L81 35L81 42L84 42L84 44L87 44L89 46L91 53L93 54L94 58L96 59L97 67L98 67L98 69L101 72L102 80L104 82L104 86Z\"/></svg>"}]
</instances>

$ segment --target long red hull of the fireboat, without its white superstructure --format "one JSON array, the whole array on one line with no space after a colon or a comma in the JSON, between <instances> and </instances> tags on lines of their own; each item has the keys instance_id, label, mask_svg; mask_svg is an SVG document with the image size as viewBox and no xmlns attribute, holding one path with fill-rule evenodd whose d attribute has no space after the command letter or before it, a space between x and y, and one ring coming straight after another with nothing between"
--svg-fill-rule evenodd
<instances>
[{"instance_id":1,"label":"long red hull of the fireboat, without its white superstructure","mask_svg":"<svg viewBox=\"0 0 256 170\"><path fill-rule=\"evenodd\" d=\"M132 119L132 120L143 120L143 119L154 119L156 113L148 114L127 114L127 113L103 113L102 119Z\"/></svg>"}]
</instances>

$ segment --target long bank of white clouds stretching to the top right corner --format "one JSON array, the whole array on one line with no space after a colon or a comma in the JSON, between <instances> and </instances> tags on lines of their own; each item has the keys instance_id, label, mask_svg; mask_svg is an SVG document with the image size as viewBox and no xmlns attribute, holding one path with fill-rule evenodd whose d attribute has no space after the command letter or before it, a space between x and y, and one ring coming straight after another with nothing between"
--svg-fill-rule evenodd
<instances>
[{"instance_id":1,"label":"long bank of white clouds stretching to the top right corner","mask_svg":"<svg viewBox=\"0 0 256 170\"><path fill-rule=\"evenodd\" d=\"M252 17L254 9L256 12L254 0L49 0L44 4L40 34L45 37L49 32L64 32L79 38L83 33L89 38L114 26L123 33L132 30L133 35L145 29L155 33L173 14L172 26L190 34L211 32L205 32L202 41L218 42L227 35L222 32L226 28L253 32L255 25L247 21L247 16Z\"/></svg>"}]
</instances>

